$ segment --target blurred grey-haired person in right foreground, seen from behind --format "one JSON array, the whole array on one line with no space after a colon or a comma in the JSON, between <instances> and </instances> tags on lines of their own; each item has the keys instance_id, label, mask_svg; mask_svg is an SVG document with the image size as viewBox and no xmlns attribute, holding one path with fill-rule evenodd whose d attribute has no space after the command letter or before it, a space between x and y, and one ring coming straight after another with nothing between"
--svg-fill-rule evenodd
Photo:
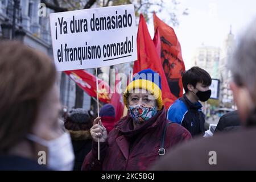
<instances>
[{"instance_id":1,"label":"blurred grey-haired person in right foreground, seen from behind","mask_svg":"<svg viewBox=\"0 0 256 182\"><path fill-rule=\"evenodd\" d=\"M175 148L153 170L256 170L256 22L245 32L230 69L242 128Z\"/></svg>"}]
</instances>

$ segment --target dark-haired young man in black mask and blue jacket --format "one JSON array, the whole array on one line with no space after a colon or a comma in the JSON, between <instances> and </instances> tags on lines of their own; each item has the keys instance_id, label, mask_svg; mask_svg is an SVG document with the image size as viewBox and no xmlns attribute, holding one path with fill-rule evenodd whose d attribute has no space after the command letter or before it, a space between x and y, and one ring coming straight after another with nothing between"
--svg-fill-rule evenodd
<instances>
[{"instance_id":1,"label":"dark-haired young man in black mask and blue jacket","mask_svg":"<svg viewBox=\"0 0 256 182\"><path fill-rule=\"evenodd\" d=\"M192 137L203 135L205 115L199 101L210 98L212 78L204 69L192 67L183 74L182 82L185 94L169 107L167 118L185 127Z\"/></svg>"}]
</instances>

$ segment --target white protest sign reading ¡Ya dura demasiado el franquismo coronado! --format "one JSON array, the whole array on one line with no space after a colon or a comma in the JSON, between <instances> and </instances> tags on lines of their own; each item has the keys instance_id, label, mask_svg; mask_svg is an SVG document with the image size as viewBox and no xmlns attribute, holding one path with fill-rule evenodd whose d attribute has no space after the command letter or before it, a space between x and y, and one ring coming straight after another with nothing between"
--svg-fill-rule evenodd
<instances>
[{"instance_id":1,"label":"white protest sign reading \u00a1Ya dura demasiado el franquismo coronado!","mask_svg":"<svg viewBox=\"0 0 256 182\"><path fill-rule=\"evenodd\" d=\"M49 18L57 71L137 60L133 5L52 13Z\"/></svg>"}]
</instances>

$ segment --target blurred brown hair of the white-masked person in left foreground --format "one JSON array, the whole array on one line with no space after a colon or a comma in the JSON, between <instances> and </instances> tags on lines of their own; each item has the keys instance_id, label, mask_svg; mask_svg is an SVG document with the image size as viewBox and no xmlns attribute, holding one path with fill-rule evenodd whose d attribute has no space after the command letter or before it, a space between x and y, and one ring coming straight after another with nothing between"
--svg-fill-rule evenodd
<instances>
[{"instance_id":1,"label":"blurred brown hair of the white-masked person in left foreground","mask_svg":"<svg viewBox=\"0 0 256 182\"><path fill-rule=\"evenodd\" d=\"M19 42L0 43L0 152L26 137L55 83L53 61Z\"/></svg>"}]
</instances>

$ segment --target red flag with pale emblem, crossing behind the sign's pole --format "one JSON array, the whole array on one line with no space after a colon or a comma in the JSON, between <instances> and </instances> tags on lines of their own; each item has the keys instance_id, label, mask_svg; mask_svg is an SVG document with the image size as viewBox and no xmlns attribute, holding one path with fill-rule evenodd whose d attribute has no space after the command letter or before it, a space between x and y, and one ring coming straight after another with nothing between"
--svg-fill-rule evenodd
<instances>
[{"instance_id":1,"label":"red flag with pale emblem, crossing behind the sign's pole","mask_svg":"<svg viewBox=\"0 0 256 182\"><path fill-rule=\"evenodd\" d=\"M96 76L84 71L83 69L65 71L65 73L76 82L79 87L91 97L97 97ZM98 79L98 99L101 102L110 102L110 88L106 82Z\"/></svg>"}]
</instances>

